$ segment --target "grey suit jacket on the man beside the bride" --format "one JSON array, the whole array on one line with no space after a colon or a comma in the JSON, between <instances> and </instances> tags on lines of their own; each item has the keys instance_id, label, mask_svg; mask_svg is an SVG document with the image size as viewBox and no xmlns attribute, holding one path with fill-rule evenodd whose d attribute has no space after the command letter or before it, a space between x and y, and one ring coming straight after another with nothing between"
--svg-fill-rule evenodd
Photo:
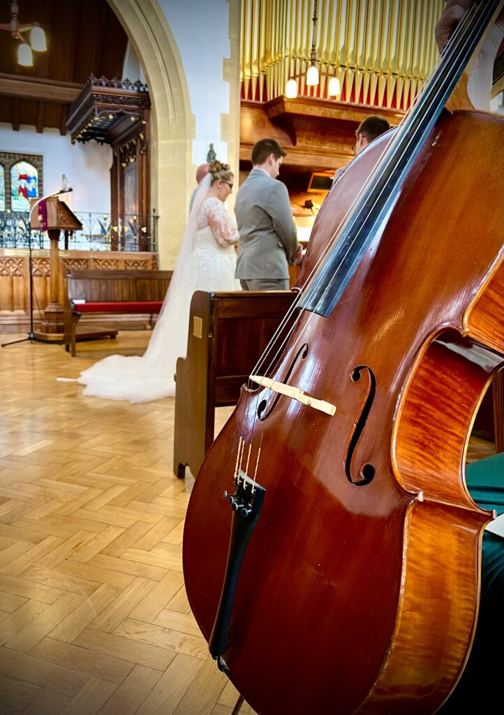
<instances>
[{"instance_id":1,"label":"grey suit jacket on the man beside the bride","mask_svg":"<svg viewBox=\"0 0 504 715\"><path fill-rule=\"evenodd\" d=\"M298 243L285 184L252 169L239 187L234 213L239 231L236 277L288 278Z\"/></svg>"}]
</instances>

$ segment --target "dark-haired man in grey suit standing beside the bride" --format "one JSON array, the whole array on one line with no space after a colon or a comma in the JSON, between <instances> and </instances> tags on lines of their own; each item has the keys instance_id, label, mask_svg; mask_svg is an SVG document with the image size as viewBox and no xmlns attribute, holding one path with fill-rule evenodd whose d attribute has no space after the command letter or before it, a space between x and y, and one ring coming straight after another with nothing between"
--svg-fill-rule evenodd
<instances>
[{"instance_id":1,"label":"dark-haired man in grey suit standing beside the bride","mask_svg":"<svg viewBox=\"0 0 504 715\"><path fill-rule=\"evenodd\" d=\"M252 171L237 193L235 277L243 290L289 290L289 264L302 261L287 187L276 180L285 154L275 139L257 142Z\"/></svg>"}]
</instances>

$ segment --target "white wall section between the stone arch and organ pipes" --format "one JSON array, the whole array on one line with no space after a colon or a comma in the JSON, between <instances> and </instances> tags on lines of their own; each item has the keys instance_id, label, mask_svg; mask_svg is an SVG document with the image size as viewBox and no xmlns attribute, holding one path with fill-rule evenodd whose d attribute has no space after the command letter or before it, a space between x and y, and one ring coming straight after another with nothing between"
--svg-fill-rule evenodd
<instances>
[{"instance_id":1,"label":"white wall section between the stone arch and organ pipes","mask_svg":"<svg viewBox=\"0 0 504 715\"><path fill-rule=\"evenodd\" d=\"M212 142L217 159L227 161L221 139L221 114L229 113L229 82L224 82L224 59L229 58L227 0L159 0L184 65L191 109L196 118L192 161L207 161Z\"/></svg>"}]
</instances>

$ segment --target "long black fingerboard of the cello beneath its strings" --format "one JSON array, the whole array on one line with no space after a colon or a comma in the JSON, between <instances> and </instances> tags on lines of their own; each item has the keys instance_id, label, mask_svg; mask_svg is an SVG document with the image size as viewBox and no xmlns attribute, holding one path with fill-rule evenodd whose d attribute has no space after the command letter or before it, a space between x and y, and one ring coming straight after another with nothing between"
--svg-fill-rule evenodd
<instances>
[{"instance_id":1,"label":"long black fingerboard of the cello beneath its strings","mask_svg":"<svg viewBox=\"0 0 504 715\"><path fill-rule=\"evenodd\" d=\"M468 9L443 48L433 77L417 97L372 178L362 189L355 210L305 287L300 307L327 316L337 305L372 240L379 237L405 177L501 5L502 0L481 0Z\"/></svg>"}]
</instances>

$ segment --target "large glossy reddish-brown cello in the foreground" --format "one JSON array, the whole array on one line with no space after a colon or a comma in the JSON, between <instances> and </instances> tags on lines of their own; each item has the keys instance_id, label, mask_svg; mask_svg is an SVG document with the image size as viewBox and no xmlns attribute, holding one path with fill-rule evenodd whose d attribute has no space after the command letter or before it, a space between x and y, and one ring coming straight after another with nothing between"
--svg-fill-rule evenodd
<instances>
[{"instance_id":1,"label":"large glossy reddish-brown cello in the foreground","mask_svg":"<svg viewBox=\"0 0 504 715\"><path fill-rule=\"evenodd\" d=\"M405 122L328 194L292 314L194 483L189 603L260 715L430 715L468 658L493 514L464 462L504 363L504 119L445 104L498 6L471 6Z\"/></svg>"}]
</instances>

